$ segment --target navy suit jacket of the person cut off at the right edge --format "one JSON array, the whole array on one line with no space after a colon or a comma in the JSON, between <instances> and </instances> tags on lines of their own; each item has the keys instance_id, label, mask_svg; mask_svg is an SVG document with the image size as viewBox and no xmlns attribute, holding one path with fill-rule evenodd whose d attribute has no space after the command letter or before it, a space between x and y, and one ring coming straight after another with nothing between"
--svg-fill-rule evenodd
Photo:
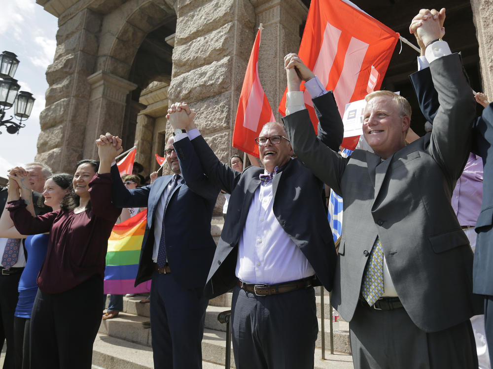
<instances>
[{"instance_id":1,"label":"navy suit jacket of the person cut off at the right edge","mask_svg":"<svg viewBox=\"0 0 493 369\"><path fill-rule=\"evenodd\" d=\"M411 82L418 97L424 117L433 122L439 102L438 95L431 80L429 68L424 68L411 76ZM472 92L471 92L472 99ZM473 267L473 292L493 296L493 102L478 117L472 128L471 151L483 158L483 201L476 223L476 251Z\"/></svg>"}]
</instances>

